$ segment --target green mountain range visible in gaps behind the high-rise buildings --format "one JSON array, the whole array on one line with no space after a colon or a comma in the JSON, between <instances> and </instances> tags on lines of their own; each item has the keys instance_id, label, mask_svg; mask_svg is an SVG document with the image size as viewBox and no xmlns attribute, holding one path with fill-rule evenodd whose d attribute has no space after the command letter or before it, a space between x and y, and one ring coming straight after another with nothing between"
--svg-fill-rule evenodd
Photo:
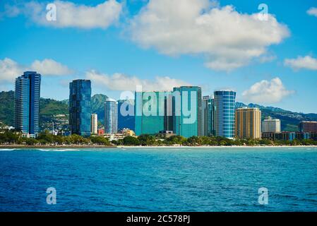
<instances>
[{"instance_id":1,"label":"green mountain range visible in gaps behind the high-rise buildings","mask_svg":"<svg viewBox=\"0 0 317 226\"><path fill-rule=\"evenodd\" d=\"M100 123L104 121L104 102L107 95L96 94L92 96L92 113L98 115ZM8 126L13 126L14 114L14 92L0 92L0 121ZM282 131L297 131L300 121L317 121L317 114L304 114L291 112L278 107L265 107L262 105L237 102L236 107L258 107L262 112L262 119L273 117L281 120ZM47 98L40 99L40 125L41 128L55 120L56 115L68 117L68 100L52 100Z\"/></svg>"}]
</instances>

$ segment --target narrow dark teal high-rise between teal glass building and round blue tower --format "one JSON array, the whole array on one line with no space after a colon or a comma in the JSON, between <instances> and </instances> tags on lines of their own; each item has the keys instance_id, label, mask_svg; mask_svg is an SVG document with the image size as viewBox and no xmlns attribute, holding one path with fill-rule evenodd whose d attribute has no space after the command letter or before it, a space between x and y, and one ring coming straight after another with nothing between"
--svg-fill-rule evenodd
<instances>
[{"instance_id":1,"label":"narrow dark teal high-rise between teal glass building and round blue tower","mask_svg":"<svg viewBox=\"0 0 317 226\"><path fill-rule=\"evenodd\" d=\"M202 102L202 123L203 129L202 136L211 136L214 133L214 111L213 111L213 98L210 96L204 96Z\"/></svg>"}]
</instances>

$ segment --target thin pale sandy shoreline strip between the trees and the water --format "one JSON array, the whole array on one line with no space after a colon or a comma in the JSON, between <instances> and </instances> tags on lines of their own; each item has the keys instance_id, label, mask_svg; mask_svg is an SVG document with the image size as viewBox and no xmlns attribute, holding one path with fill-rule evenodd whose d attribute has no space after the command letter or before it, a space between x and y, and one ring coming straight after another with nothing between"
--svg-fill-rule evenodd
<instances>
[{"instance_id":1,"label":"thin pale sandy shoreline strip between the trees and the water","mask_svg":"<svg viewBox=\"0 0 317 226\"><path fill-rule=\"evenodd\" d=\"M52 148L317 148L317 145L256 145L256 146L128 146L128 145L0 145L0 148L44 148L44 149L52 149Z\"/></svg>"}]
</instances>

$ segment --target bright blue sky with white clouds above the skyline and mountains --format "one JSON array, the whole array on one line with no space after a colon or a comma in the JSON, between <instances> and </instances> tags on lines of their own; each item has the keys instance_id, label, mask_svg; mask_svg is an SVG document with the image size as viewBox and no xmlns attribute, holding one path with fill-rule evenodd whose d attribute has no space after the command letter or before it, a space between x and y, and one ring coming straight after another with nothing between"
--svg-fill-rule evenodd
<instances>
[{"instance_id":1,"label":"bright blue sky with white clouds above the skyline and mountains","mask_svg":"<svg viewBox=\"0 0 317 226\"><path fill-rule=\"evenodd\" d=\"M1 0L0 90L37 71L55 100L82 78L115 99L198 85L317 113L316 28L312 0Z\"/></svg>"}]
</instances>

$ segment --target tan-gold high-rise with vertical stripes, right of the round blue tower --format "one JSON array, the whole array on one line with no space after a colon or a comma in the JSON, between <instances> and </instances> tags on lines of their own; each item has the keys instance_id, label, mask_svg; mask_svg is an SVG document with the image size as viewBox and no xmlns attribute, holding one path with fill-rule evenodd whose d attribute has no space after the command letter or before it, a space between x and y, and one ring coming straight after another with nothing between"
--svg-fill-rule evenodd
<instances>
[{"instance_id":1,"label":"tan-gold high-rise with vertical stripes, right of the round blue tower","mask_svg":"<svg viewBox=\"0 0 317 226\"><path fill-rule=\"evenodd\" d=\"M253 107L236 109L236 137L261 138L261 110Z\"/></svg>"}]
</instances>

